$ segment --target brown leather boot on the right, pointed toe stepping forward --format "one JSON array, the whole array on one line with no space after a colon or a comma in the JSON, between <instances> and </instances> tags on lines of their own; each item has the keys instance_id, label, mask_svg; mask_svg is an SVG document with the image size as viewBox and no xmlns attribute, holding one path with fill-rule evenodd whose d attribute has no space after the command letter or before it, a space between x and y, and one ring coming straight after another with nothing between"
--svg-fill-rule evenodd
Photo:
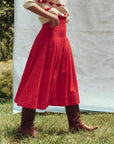
<instances>
[{"instance_id":1,"label":"brown leather boot on the right, pointed toe stepping forward","mask_svg":"<svg viewBox=\"0 0 114 144\"><path fill-rule=\"evenodd\" d=\"M98 126L87 126L81 121L79 105L66 106L65 110L68 118L69 130L71 132L79 132L80 129L93 131L98 128Z\"/></svg>"}]
</instances>

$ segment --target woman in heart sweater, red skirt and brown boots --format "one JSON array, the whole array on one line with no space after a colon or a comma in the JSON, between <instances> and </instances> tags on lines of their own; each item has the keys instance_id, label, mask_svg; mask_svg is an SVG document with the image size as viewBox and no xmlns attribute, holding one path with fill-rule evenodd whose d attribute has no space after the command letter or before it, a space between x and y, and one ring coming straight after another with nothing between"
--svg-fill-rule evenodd
<instances>
[{"instance_id":1,"label":"woman in heart sweater, red skirt and brown boots","mask_svg":"<svg viewBox=\"0 0 114 144\"><path fill-rule=\"evenodd\" d=\"M92 131L80 118L79 92L66 23L66 0L25 0L24 8L39 15L42 28L37 35L17 90L15 102L22 106L20 132L41 135L33 125L35 110L49 105L65 106L70 131Z\"/></svg>"}]
</instances>

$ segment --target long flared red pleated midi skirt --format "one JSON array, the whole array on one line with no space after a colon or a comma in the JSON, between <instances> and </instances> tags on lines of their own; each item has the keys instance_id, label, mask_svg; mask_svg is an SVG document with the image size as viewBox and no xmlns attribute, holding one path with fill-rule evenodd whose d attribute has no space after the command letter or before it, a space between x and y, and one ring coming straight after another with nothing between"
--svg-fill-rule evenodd
<instances>
[{"instance_id":1,"label":"long flared red pleated midi skirt","mask_svg":"<svg viewBox=\"0 0 114 144\"><path fill-rule=\"evenodd\" d=\"M59 20L54 28L44 24L33 43L14 99L18 106L44 110L80 102L65 18Z\"/></svg>"}]
</instances>

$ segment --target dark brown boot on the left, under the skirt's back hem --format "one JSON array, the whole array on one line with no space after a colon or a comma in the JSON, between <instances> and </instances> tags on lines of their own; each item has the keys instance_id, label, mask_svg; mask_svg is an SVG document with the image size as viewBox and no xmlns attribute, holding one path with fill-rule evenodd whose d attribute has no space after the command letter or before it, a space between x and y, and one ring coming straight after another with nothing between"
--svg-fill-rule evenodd
<instances>
[{"instance_id":1,"label":"dark brown boot on the left, under the skirt's back hem","mask_svg":"<svg viewBox=\"0 0 114 144\"><path fill-rule=\"evenodd\" d=\"M28 109L28 108L22 108L22 116L21 116L21 126L20 126L20 133L22 135L28 134L30 136L37 137L38 135L41 136L41 133L39 133L33 125L33 121L35 118L35 110Z\"/></svg>"}]
</instances>

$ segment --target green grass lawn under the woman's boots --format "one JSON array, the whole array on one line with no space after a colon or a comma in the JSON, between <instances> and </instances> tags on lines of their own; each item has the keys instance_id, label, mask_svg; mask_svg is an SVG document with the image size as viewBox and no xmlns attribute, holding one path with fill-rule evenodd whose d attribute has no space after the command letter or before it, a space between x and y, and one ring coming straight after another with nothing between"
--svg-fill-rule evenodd
<instances>
[{"instance_id":1,"label":"green grass lawn under the woman's boots","mask_svg":"<svg viewBox=\"0 0 114 144\"><path fill-rule=\"evenodd\" d=\"M98 125L93 132L72 134L68 130L66 114L37 113L34 125L42 137L31 138L19 134L21 114L13 114L12 100L1 99L0 144L114 144L114 114L82 113L88 125Z\"/></svg>"}]
</instances>

